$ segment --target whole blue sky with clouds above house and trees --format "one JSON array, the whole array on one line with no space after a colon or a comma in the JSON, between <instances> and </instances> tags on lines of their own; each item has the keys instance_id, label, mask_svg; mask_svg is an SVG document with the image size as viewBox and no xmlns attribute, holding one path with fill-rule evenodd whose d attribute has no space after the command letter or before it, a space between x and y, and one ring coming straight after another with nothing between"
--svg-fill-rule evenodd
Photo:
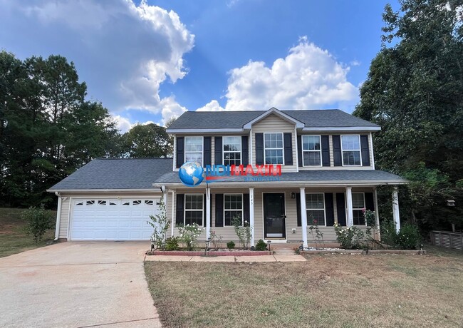
<instances>
[{"instance_id":1,"label":"whole blue sky with clouds above house and trees","mask_svg":"<svg viewBox=\"0 0 463 328\"><path fill-rule=\"evenodd\" d=\"M0 47L66 56L123 131L187 110L350 113L387 3L0 0Z\"/></svg>"}]
</instances>

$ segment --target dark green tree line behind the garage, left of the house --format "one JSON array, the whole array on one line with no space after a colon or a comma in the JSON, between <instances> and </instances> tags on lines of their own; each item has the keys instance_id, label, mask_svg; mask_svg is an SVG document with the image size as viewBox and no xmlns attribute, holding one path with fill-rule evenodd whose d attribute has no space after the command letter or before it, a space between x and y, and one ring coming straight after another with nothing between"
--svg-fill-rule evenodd
<instances>
[{"instance_id":1,"label":"dark green tree line behind the garage, left of the house","mask_svg":"<svg viewBox=\"0 0 463 328\"><path fill-rule=\"evenodd\" d=\"M108 109L85 99L63 56L21 61L0 52L0 206L56 201L46 189L98 157L162 157L172 140L156 124L116 128Z\"/></svg>"}]
</instances>

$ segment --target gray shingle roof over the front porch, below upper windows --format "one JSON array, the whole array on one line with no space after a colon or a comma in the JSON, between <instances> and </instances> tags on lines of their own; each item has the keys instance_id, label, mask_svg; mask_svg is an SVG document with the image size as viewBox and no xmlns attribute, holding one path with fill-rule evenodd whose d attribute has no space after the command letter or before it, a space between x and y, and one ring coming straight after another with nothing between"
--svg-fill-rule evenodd
<instances>
[{"instance_id":1,"label":"gray shingle roof over the front porch, below upper windows","mask_svg":"<svg viewBox=\"0 0 463 328\"><path fill-rule=\"evenodd\" d=\"M259 176L256 176L259 178ZM266 177L263 177L264 179ZM407 181L399 175L395 175L383 170L307 170L294 173L281 173L280 182L318 182L318 181L381 181L383 183L406 183ZM227 178L229 182L246 182L244 176ZM157 184L162 183L181 183L178 172L170 172L162 175L156 180ZM214 185L214 183L212 183Z\"/></svg>"}]
</instances>

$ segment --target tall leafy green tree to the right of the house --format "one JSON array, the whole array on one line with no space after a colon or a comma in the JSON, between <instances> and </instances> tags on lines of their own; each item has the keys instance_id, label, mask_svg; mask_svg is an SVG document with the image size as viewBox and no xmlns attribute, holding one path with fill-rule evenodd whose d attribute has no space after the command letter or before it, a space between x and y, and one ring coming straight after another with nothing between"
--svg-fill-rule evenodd
<instances>
[{"instance_id":1,"label":"tall leafy green tree to the right of the house","mask_svg":"<svg viewBox=\"0 0 463 328\"><path fill-rule=\"evenodd\" d=\"M400 4L385 7L383 46L354 115L382 127L373 140L378 168L412 181L402 213L447 228L463 213L463 1ZM453 215L445 198L457 200Z\"/></svg>"}]
</instances>

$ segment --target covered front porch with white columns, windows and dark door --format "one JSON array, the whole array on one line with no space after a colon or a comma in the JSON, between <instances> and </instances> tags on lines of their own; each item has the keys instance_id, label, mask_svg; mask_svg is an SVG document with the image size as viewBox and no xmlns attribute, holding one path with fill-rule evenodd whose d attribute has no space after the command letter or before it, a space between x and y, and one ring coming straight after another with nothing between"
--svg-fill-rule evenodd
<instances>
[{"instance_id":1,"label":"covered front porch with white columns, windows and dark door","mask_svg":"<svg viewBox=\"0 0 463 328\"><path fill-rule=\"evenodd\" d=\"M375 211L379 228L377 186L237 186L214 183L196 188L167 188L167 215L171 220L170 235L178 235L177 225L197 223L204 227L199 241L211 232L224 242L237 242L232 220L239 217L250 225L251 245L260 239L272 244L314 241L311 226L318 226L325 242L335 242L333 225L357 226L366 230L363 209ZM400 229L397 188L391 195L394 220Z\"/></svg>"}]
</instances>

